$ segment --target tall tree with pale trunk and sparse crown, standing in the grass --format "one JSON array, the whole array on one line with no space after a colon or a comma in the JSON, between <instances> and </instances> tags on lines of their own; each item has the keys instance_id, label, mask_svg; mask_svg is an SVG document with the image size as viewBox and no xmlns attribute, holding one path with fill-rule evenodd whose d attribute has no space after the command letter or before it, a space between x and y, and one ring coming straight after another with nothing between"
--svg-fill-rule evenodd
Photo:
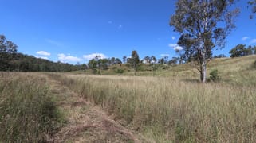
<instances>
[{"instance_id":1,"label":"tall tree with pale trunk and sparse crown, standing in the grass","mask_svg":"<svg viewBox=\"0 0 256 143\"><path fill-rule=\"evenodd\" d=\"M233 0L178 0L170 25L181 34L179 43L185 54L194 56L200 79L206 82L207 60L213 48L223 48L234 26L238 9L230 10ZM184 42L185 41L185 42Z\"/></svg>"}]
</instances>

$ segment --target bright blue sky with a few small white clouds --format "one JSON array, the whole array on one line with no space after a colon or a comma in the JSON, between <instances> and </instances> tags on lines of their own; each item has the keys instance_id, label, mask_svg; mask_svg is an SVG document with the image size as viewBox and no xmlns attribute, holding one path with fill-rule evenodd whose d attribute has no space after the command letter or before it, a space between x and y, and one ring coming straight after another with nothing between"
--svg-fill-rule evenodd
<instances>
[{"instance_id":1,"label":"bright blue sky with a few small white clouds","mask_svg":"<svg viewBox=\"0 0 256 143\"><path fill-rule=\"evenodd\" d=\"M71 64L87 63L95 55L140 58L178 56L179 33L169 26L175 0L0 0L0 34L18 45L18 52ZM237 28L226 48L256 44L256 18L250 20L246 1L237 6Z\"/></svg>"}]
</instances>

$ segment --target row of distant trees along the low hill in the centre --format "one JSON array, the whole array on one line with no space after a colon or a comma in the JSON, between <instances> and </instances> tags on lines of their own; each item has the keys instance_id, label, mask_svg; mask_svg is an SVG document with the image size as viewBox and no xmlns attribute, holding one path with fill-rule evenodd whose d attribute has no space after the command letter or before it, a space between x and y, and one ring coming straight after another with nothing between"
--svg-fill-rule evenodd
<instances>
[{"instance_id":1,"label":"row of distant trees along the low hill in the centre","mask_svg":"<svg viewBox=\"0 0 256 143\"><path fill-rule=\"evenodd\" d=\"M226 57L223 54L218 56L213 56L213 58L223 58ZM145 56L140 59L140 56L136 50L131 52L130 56L123 56L123 61L119 58L104 58L100 56L94 57L92 60L89 60L89 63L86 65L87 69L93 70L93 74L101 74L102 71L108 70L110 67L116 69L116 73L123 73L121 69L116 68L116 64L120 66L126 66L127 68L132 68L136 75L137 71L156 71L157 69L168 69L169 66L176 66L178 64L184 64L194 61L192 57L184 58L184 54L179 56L172 57L169 60L169 56L163 56L160 59L156 59L156 56ZM146 65L147 69L141 68L142 65Z\"/></svg>"}]
</instances>

